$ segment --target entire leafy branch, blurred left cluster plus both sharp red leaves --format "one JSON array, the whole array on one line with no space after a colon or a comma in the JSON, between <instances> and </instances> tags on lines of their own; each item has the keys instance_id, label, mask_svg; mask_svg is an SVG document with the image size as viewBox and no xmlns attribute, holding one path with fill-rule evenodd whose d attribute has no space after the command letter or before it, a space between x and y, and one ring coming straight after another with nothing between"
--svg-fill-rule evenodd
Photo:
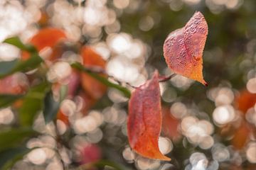
<instances>
[{"instance_id":1,"label":"entire leafy branch, blurred left cluster plus both sharp red leaves","mask_svg":"<svg viewBox=\"0 0 256 170\"><path fill-rule=\"evenodd\" d=\"M200 81L203 80L203 48L208 34L208 26L200 12L196 12L184 28L170 33L164 43L164 57L169 68L185 77ZM49 36L50 35L50 36ZM13 106L18 111L17 128L6 129L1 132L1 159L0 166L9 168L23 154L30 149L16 147L16 144L24 141L27 137L38 135L32 128L33 122L43 111L46 124L57 119L69 124L67 115L60 111L60 103L68 97L72 97L82 85L83 96L87 101L87 108L105 94L107 86L121 91L129 100L129 117L127 122L129 145L135 152L150 159L161 159L169 161L159 151L158 138L162 126L161 98L159 81L166 81L171 77L159 77L157 71L145 84L134 89L132 96L129 89L119 84L112 83L107 79L105 73L105 61L97 55L90 47L83 46L78 50L82 56L82 63L71 62L73 67L73 80L67 86L59 82L50 82L46 72L51 62L57 62L63 53L62 45L67 42L63 30L55 28L44 28L33 36L28 45L24 45L17 37L8 38L4 42L14 45L22 50L20 60L11 62L0 62L1 91L0 107ZM46 59L43 59L38 52L45 47L52 47L53 52ZM49 64L50 63L50 64ZM36 69L36 70L35 70ZM6 87L16 72L32 72L29 74L30 88L27 86ZM56 99L55 91L58 91ZM58 134L58 133L57 133ZM61 141L60 141L60 144ZM25 145L25 143L24 143ZM8 155L8 157L6 157ZM86 156L85 156L86 157ZM84 162L86 163L86 162Z\"/></svg>"}]
</instances>

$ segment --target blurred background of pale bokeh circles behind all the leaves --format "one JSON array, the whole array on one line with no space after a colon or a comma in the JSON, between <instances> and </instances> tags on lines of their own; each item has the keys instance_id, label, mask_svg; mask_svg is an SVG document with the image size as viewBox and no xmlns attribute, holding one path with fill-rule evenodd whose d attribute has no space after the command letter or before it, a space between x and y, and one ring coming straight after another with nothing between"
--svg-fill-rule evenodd
<instances>
[{"instance_id":1,"label":"blurred background of pale bokeh circles behind all the leaves","mask_svg":"<svg viewBox=\"0 0 256 170\"><path fill-rule=\"evenodd\" d=\"M26 140L28 148L36 149L13 169L63 169L60 157L70 169L79 159L107 159L143 170L256 169L254 0L1 0L0 42L13 35L28 42L41 28L61 28L70 42L90 45L107 61L107 73L132 89L129 84L143 84L154 69L171 74L163 57L164 40L195 11L203 13L209 28L203 53L209 86L181 76L160 84L164 121L159 147L171 162L146 159L129 148L128 99L110 88L86 113L79 110L86 103L81 97L63 101L71 123L60 120L58 128L71 147L63 147L60 155L49 149L57 148L52 127L39 115L33 128L41 135ZM18 57L20 50L0 43L0 61ZM61 57L76 60L78 54L66 50ZM52 67L48 79L70 74L65 62ZM15 75L14 84L27 84L26 74ZM16 116L12 108L1 108L0 130L16 126Z\"/></svg>"}]
</instances>

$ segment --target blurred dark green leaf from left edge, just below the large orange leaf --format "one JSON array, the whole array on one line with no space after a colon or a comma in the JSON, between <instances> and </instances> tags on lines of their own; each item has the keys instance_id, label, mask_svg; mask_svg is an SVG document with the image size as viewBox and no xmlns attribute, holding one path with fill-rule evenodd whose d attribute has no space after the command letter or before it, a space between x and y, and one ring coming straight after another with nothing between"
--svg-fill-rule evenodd
<instances>
[{"instance_id":1,"label":"blurred dark green leaf from left edge, just below the large orange leaf","mask_svg":"<svg viewBox=\"0 0 256 170\"><path fill-rule=\"evenodd\" d=\"M14 60L11 62L0 62L0 78L6 77L15 72L28 72L35 69L43 60L37 53L33 53L26 61Z\"/></svg>"}]
</instances>

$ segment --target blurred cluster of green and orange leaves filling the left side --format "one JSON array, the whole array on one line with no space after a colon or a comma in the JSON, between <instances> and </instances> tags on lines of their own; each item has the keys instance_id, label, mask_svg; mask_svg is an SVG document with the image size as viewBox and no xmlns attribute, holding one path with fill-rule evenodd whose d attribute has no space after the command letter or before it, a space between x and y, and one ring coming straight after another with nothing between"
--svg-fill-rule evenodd
<instances>
[{"instance_id":1,"label":"blurred cluster of green and orange leaves filling the left side","mask_svg":"<svg viewBox=\"0 0 256 170\"><path fill-rule=\"evenodd\" d=\"M51 62L60 61L59 57L64 50L63 43L67 41L63 30L56 28L43 28L31 38L28 45L24 45L18 37L4 41L18 47L22 50L22 54L21 59L0 62L0 107L12 106L18 112L16 128L2 130L0 134L1 169L9 169L18 159L22 158L23 154L31 150L26 148L26 139L40 135L32 127L41 111L43 111L46 125L52 121L56 123L56 120L62 120L63 123L69 125L68 116L60 110L60 103L65 98L75 96L80 84L82 91L79 93L86 102L82 108L84 113L87 113L105 94L107 86L122 91L124 96L130 96L128 89L107 79L105 73L102 73L105 69L105 61L87 46L80 49L83 62L70 63L73 69L68 85L62 85L58 81L48 81L46 74L52 65ZM43 59L39 52L46 47L52 47L53 52L47 59ZM31 74L26 74L29 84L14 84L18 81L16 72L31 72ZM56 91L57 94L55 94ZM63 145L62 141L60 143Z\"/></svg>"}]
</instances>

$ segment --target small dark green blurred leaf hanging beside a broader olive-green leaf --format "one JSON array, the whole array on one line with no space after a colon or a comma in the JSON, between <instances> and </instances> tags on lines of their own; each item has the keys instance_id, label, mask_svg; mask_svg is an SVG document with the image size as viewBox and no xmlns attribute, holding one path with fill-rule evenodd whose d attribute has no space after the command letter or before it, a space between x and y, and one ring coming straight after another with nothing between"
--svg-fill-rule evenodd
<instances>
[{"instance_id":1,"label":"small dark green blurred leaf hanging beside a broader olive-green leaf","mask_svg":"<svg viewBox=\"0 0 256 170\"><path fill-rule=\"evenodd\" d=\"M60 102L55 101L53 98L53 92L49 91L44 99L43 117L45 118L46 124L53 120L60 108Z\"/></svg>"}]
</instances>

